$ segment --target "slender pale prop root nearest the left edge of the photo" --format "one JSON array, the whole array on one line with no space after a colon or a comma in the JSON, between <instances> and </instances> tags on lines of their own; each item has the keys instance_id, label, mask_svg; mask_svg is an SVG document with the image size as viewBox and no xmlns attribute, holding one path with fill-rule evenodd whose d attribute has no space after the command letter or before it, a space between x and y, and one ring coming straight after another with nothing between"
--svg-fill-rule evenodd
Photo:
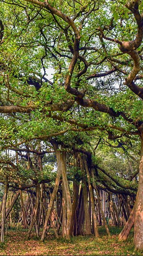
<instances>
[{"instance_id":1,"label":"slender pale prop root nearest the left edge of the photo","mask_svg":"<svg viewBox=\"0 0 143 256\"><path fill-rule=\"evenodd\" d=\"M8 192L8 182L6 180L5 189L4 189L4 197L3 197L3 205L1 209L1 243L4 243L4 226L6 221L6 199Z\"/></svg>"}]
</instances>

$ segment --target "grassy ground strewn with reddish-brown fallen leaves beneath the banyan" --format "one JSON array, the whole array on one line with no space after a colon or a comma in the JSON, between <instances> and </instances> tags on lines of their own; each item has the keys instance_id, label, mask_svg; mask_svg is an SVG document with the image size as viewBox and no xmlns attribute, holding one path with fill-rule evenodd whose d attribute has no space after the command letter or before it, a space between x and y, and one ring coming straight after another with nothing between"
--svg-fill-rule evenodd
<instances>
[{"instance_id":1,"label":"grassy ground strewn with reddish-brown fallen leaves beneath the banyan","mask_svg":"<svg viewBox=\"0 0 143 256\"><path fill-rule=\"evenodd\" d=\"M51 232L42 243L31 234L27 240L27 231L9 230L4 244L0 244L0 255L143 255L134 252L133 231L126 242L118 241L121 228L109 227L111 238L108 238L104 227L99 228L100 239L94 236L79 236L70 241L57 240Z\"/></svg>"}]
</instances>

